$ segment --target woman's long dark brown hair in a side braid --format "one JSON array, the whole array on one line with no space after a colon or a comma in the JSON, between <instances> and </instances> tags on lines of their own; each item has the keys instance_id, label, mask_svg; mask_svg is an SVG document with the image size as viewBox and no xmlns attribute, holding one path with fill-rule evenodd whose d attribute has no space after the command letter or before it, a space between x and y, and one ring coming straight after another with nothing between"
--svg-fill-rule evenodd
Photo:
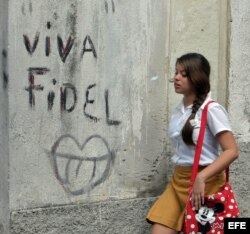
<instances>
[{"instance_id":1,"label":"woman's long dark brown hair in a side braid","mask_svg":"<svg viewBox=\"0 0 250 234\"><path fill-rule=\"evenodd\" d=\"M192 113L182 129L183 141L187 145L194 145L192 138L193 127L190 124L190 120L194 119L196 112L210 92L210 65L208 60L198 53L184 54L176 60L176 64L183 66L196 95L196 99L193 102Z\"/></svg>"}]
</instances>

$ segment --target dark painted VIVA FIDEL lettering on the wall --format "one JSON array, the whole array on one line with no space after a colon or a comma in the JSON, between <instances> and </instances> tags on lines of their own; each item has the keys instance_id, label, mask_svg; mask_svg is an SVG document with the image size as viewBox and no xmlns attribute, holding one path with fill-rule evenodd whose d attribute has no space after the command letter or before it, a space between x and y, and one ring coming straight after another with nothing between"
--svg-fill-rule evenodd
<instances>
[{"instance_id":1,"label":"dark painted VIVA FIDEL lettering on the wall","mask_svg":"<svg viewBox=\"0 0 250 234\"><path fill-rule=\"evenodd\" d=\"M112 5L114 3L112 2ZM114 6L113 6L114 7ZM51 22L47 22L47 28L51 28ZM39 44L40 40L40 32L36 32L33 40L30 39L30 36L27 34L23 34L23 43L25 46L26 51L30 56L33 56L35 53L37 46ZM61 58L61 61L63 63L66 62L66 59L72 50L72 47L74 45L74 38L72 36L68 36L68 39L66 41L63 41L62 37L58 34L57 35L57 48L58 48L58 54ZM97 59L97 52L93 43L93 40L89 35L85 37L82 43L80 58L82 59L84 54L86 52L91 52L93 54L93 57ZM46 36L45 38L45 55L49 56L51 53L51 38ZM47 67L30 67L28 68L28 81L29 86L25 87L25 90L28 91L28 97L29 97L29 104L30 107L35 106L35 91L43 91L44 86L41 84L36 84L36 75L45 75L50 71ZM52 83L53 85L56 84L56 80L53 79ZM83 106L83 113L88 118L95 122L99 121L100 118L93 116L86 111L86 107L89 104L93 104L95 100L89 100L89 92L92 88L94 88L96 84L89 85L86 90L86 102ZM73 104L70 107L66 107L67 105L67 96L71 92L73 94ZM104 94L105 99L105 109L106 109L106 122L108 125L119 125L120 121L116 120L110 120L109 118L109 90L105 90ZM49 91L47 94L47 103L48 103L48 110L52 110L55 100L55 92ZM60 87L60 103L61 103L61 111L67 111L72 112L75 109L76 103L77 103L77 89L76 87L71 83L63 83Z\"/></svg>"}]
</instances>

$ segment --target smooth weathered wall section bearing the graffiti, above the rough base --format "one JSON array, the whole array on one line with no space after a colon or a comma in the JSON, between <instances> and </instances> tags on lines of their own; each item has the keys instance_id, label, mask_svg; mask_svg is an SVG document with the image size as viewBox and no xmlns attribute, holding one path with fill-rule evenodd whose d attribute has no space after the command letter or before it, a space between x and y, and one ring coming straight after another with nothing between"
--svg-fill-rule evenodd
<instances>
[{"instance_id":1,"label":"smooth weathered wall section bearing the graffiti, above the rough base","mask_svg":"<svg viewBox=\"0 0 250 234\"><path fill-rule=\"evenodd\" d=\"M135 198L164 174L166 9L11 1L11 210Z\"/></svg>"}]
</instances>

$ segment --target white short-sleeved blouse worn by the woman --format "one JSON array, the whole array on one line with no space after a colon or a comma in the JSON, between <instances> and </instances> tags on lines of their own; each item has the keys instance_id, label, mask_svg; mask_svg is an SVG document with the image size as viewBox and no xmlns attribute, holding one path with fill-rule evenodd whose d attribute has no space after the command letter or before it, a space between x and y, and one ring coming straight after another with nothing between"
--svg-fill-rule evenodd
<instances>
[{"instance_id":1,"label":"white short-sleeved blouse worn by the woman","mask_svg":"<svg viewBox=\"0 0 250 234\"><path fill-rule=\"evenodd\" d=\"M198 140L201 113L208 101L208 97L202 106L199 108L192 123L194 125L193 141L196 144ZM186 145L181 136L181 131L188 117L192 112L192 105L184 107L181 102L175 109L169 122L169 137L175 146L175 154L172 156L172 161L176 165L192 166L194 160L195 146ZM209 104L207 115L207 127L205 131L202 152L199 164L202 166L212 163L219 155L220 146L216 140L216 134L222 131L231 131L231 126L226 110L217 102Z\"/></svg>"}]
</instances>

